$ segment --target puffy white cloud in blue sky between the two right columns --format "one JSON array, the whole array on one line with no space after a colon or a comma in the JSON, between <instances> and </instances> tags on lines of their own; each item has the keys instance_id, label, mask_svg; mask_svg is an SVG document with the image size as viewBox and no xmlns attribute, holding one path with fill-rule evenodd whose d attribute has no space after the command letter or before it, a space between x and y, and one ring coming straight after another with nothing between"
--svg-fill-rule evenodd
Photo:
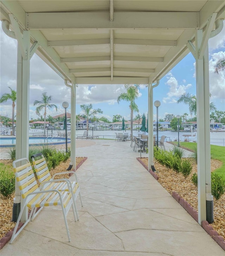
<instances>
[{"instance_id":1,"label":"puffy white cloud in blue sky between the two right columns","mask_svg":"<svg viewBox=\"0 0 225 256\"><path fill-rule=\"evenodd\" d=\"M174 76L167 78L169 78L166 82L166 85L169 86L169 92L167 93L167 97L163 98L163 103L176 103L176 98L184 94L192 85L190 83L188 85L178 85L178 81Z\"/></svg>"}]
</instances>

